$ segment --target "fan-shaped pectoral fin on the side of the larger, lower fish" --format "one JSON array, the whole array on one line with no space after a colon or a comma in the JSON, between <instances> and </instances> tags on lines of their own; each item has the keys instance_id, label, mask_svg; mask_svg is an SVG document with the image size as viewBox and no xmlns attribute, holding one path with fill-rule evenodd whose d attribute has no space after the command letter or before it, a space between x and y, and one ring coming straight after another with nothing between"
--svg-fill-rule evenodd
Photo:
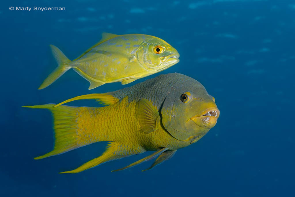
<instances>
[{"instance_id":1,"label":"fan-shaped pectoral fin on the side of the larger, lower fish","mask_svg":"<svg viewBox=\"0 0 295 197\"><path fill-rule=\"evenodd\" d=\"M141 127L141 132L148 134L158 130L160 122L159 112L147 99L138 101L137 119Z\"/></svg>"}]
</instances>

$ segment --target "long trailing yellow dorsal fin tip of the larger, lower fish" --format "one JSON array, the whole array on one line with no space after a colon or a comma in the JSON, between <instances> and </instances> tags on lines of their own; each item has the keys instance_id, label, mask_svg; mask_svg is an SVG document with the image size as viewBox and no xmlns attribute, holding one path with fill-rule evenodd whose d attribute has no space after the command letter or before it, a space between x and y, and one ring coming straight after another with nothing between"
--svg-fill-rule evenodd
<instances>
[{"instance_id":1,"label":"long trailing yellow dorsal fin tip of the larger, lower fish","mask_svg":"<svg viewBox=\"0 0 295 197\"><path fill-rule=\"evenodd\" d=\"M64 103L67 102L71 102L74 100L81 100L81 99L96 99L98 102L100 102L103 105L112 105L116 102L119 101L118 98L108 94L108 93L104 93L104 94L89 94L89 95L81 95L81 96L77 96L68 100L65 100L61 103L58 103L57 105L54 105L53 107L58 107Z\"/></svg>"}]
</instances>

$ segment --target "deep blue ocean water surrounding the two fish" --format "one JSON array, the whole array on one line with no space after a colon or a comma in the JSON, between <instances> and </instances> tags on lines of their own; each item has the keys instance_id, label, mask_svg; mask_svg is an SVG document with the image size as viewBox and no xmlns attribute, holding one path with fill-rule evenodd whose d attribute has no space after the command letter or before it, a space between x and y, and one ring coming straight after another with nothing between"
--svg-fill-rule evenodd
<instances>
[{"instance_id":1,"label":"deep blue ocean water surrounding the two fish","mask_svg":"<svg viewBox=\"0 0 295 197\"><path fill-rule=\"evenodd\" d=\"M295 196L295 1L1 2L1 196ZM9 10L9 7L14 10ZM65 7L18 11L15 7ZM32 8L33 9L33 8ZM89 82L66 72L37 88L57 66L49 44L74 59L102 32L142 33L180 53L175 66L128 85ZM110 92L179 72L201 82L221 112L217 125L155 167L111 172L149 153L78 174L58 174L98 157L99 142L41 160L53 148L50 112L23 105ZM95 101L71 105L99 106Z\"/></svg>"}]
</instances>

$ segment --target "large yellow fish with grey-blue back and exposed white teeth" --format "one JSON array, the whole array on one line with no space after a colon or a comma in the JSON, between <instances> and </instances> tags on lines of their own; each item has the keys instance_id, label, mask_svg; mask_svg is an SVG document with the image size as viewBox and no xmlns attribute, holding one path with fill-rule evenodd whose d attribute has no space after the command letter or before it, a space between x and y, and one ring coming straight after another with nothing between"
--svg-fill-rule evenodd
<instances>
[{"instance_id":1,"label":"large yellow fish with grey-blue back and exposed white teeth","mask_svg":"<svg viewBox=\"0 0 295 197\"><path fill-rule=\"evenodd\" d=\"M97 99L108 106L61 105L79 99ZM201 139L219 117L214 98L202 84L178 73L160 75L115 92L74 97L58 105L24 107L49 109L54 117L54 149L35 159L98 141L109 141L100 157L75 170L61 173L77 173L114 159L155 151L119 169L124 170L158 156L153 165L146 169L149 170L171 158L177 149Z\"/></svg>"}]
</instances>

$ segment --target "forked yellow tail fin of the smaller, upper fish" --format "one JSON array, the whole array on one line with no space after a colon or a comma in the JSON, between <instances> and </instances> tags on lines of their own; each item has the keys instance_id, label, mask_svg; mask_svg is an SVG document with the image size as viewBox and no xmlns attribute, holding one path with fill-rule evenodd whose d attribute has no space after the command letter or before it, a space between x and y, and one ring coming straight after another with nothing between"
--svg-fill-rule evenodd
<instances>
[{"instance_id":1,"label":"forked yellow tail fin of the smaller, upper fish","mask_svg":"<svg viewBox=\"0 0 295 197\"><path fill-rule=\"evenodd\" d=\"M38 89L43 89L62 76L66 71L71 69L71 66L67 65L71 62L56 46L50 45L53 56L58 63L58 67L44 80Z\"/></svg>"}]
</instances>

